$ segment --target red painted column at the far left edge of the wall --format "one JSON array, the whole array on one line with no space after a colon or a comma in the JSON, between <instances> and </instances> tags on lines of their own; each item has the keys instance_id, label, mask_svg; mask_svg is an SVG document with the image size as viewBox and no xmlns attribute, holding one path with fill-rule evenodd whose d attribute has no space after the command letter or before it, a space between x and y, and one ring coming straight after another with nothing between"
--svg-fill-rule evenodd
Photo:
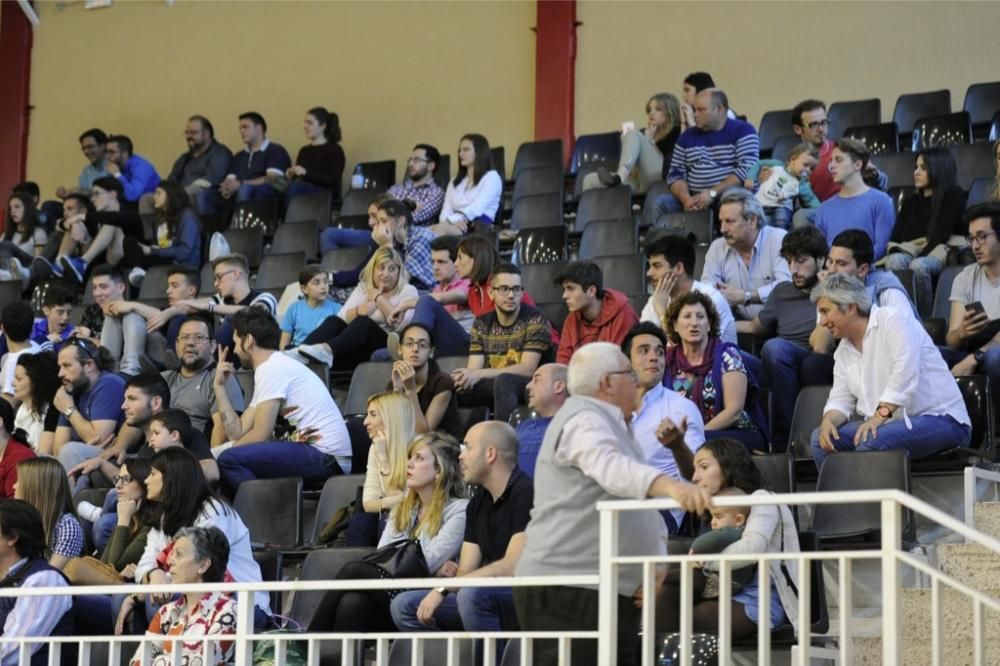
<instances>
[{"instance_id":1,"label":"red painted column at the far left edge of the wall","mask_svg":"<svg viewBox=\"0 0 1000 666\"><path fill-rule=\"evenodd\" d=\"M31 24L16 2L0 2L0 193L24 180L28 158ZM6 209L6 200L2 208Z\"/></svg>"}]
</instances>

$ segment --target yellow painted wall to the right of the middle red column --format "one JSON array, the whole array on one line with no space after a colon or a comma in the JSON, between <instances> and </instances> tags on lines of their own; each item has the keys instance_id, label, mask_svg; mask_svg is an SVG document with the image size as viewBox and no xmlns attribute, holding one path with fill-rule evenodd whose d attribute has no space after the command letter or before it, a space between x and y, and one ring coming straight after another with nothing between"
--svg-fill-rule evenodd
<instances>
[{"instance_id":1,"label":"yellow painted wall to the right of the middle red column","mask_svg":"<svg viewBox=\"0 0 1000 666\"><path fill-rule=\"evenodd\" d=\"M580 2L577 134L642 121L656 92L708 71L757 125L806 97L880 97L1000 79L998 2Z\"/></svg>"}]
</instances>

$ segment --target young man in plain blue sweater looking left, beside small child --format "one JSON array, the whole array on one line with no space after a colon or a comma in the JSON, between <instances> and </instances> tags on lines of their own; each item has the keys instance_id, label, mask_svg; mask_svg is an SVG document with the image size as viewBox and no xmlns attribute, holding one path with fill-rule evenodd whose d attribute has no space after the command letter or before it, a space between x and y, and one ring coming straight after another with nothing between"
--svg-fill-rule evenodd
<instances>
[{"instance_id":1,"label":"young man in plain blue sweater looking left, beside small child","mask_svg":"<svg viewBox=\"0 0 1000 666\"><path fill-rule=\"evenodd\" d=\"M875 261L878 261L885 256L892 228L896 225L896 209L889 195L865 184L867 164L868 148L864 143L854 139L834 142L830 175L840 185L840 192L820 205L816 226L829 244L842 231L861 229L871 236Z\"/></svg>"}]
</instances>

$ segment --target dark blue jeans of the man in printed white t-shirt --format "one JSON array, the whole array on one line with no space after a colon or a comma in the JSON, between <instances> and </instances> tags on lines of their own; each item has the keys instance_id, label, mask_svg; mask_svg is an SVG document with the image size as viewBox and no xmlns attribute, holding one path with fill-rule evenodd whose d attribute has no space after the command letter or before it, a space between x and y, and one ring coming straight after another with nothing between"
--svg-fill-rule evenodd
<instances>
[{"instance_id":1,"label":"dark blue jeans of the man in printed white t-shirt","mask_svg":"<svg viewBox=\"0 0 1000 666\"><path fill-rule=\"evenodd\" d=\"M315 446L298 442L260 442L234 446L218 459L222 483L235 494L244 481L301 476L303 483L322 483L331 476L344 474L333 456ZM346 470L350 473L350 470Z\"/></svg>"}]
</instances>

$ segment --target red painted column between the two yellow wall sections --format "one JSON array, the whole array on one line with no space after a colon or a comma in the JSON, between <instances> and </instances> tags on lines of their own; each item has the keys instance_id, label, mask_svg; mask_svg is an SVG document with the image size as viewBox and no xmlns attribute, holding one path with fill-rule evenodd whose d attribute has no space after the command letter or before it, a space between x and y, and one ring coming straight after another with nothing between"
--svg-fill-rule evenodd
<instances>
[{"instance_id":1,"label":"red painted column between the two yellow wall sections","mask_svg":"<svg viewBox=\"0 0 1000 666\"><path fill-rule=\"evenodd\" d=\"M563 140L573 150L576 103L576 0L537 0L535 140Z\"/></svg>"}]
</instances>

